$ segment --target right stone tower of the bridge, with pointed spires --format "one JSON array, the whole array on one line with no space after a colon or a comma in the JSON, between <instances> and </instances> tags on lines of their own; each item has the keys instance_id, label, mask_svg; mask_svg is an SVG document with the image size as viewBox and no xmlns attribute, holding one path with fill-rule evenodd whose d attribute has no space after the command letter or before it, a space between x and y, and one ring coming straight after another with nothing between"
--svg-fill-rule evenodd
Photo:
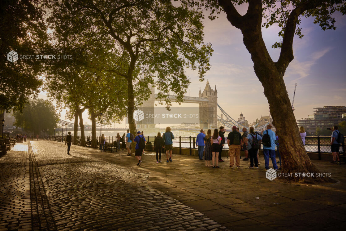
<instances>
[{"instance_id":1,"label":"right stone tower of the bridge, with pointed spires","mask_svg":"<svg viewBox=\"0 0 346 231\"><path fill-rule=\"evenodd\" d=\"M217 128L217 90L212 90L209 81L203 92L199 89L198 97L207 98L208 102L199 103L200 128Z\"/></svg>"}]
</instances>

